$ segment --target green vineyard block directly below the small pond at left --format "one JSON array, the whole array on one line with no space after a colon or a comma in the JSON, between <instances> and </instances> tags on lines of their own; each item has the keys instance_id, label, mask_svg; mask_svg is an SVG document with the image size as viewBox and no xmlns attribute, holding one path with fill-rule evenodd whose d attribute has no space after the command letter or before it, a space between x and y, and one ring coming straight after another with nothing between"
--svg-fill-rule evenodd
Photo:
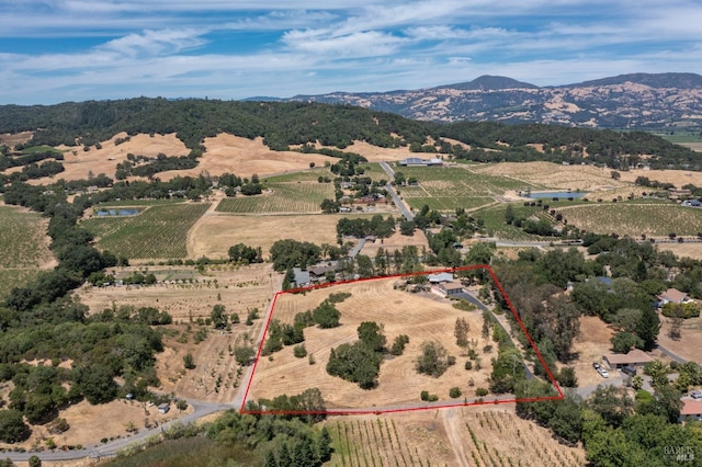
<instances>
[{"instance_id":1,"label":"green vineyard block directly below the small pond at left","mask_svg":"<svg viewBox=\"0 0 702 467\"><path fill-rule=\"evenodd\" d=\"M92 218L81 223L101 250L128 259L171 259L188 255L188 231L210 203L150 206L136 216Z\"/></svg>"}]
</instances>

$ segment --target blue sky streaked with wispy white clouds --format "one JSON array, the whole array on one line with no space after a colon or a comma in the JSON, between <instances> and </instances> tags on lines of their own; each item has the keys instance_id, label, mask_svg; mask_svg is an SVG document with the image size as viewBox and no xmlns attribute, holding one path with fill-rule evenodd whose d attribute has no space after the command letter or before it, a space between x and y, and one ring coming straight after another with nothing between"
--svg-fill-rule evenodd
<instances>
[{"instance_id":1,"label":"blue sky streaked with wispy white clouds","mask_svg":"<svg viewBox=\"0 0 702 467\"><path fill-rule=\"evenodd\" d=\"M0 0L0 104L702 73L702 0Z\"/></svg>"}]
</instances>

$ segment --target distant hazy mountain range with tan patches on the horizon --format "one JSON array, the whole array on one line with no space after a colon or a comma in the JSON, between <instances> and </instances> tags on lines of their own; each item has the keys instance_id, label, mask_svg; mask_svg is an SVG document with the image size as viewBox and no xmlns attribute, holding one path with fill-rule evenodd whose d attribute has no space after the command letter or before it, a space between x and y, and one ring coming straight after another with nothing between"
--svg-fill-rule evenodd
<instances>
[{"instance_id":1,"label":"distant hazy mountain range with tan patches on the horizon","mask_svg":"<svg viewBox=\"0 0 702 467\"><path fill-rule=\"evenodd\" d=\"M695 73L631 73L556 87L482 76L468 82L418 90L339 91L270 100L350 104L435 122L468 119L638 129L702 126L702 76Z\"/></svg>"}]
</instances>

